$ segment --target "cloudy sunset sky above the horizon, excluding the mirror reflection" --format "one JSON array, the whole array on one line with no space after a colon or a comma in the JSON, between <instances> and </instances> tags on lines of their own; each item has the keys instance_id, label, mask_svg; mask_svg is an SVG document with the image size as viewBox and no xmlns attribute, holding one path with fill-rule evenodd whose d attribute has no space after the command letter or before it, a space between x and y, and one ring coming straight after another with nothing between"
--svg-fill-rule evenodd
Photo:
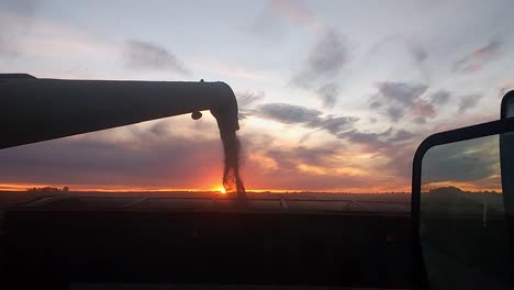
<instances>
[{"instance_id":1,"label":"cloudy sunset sky above the horizon, excluding the mirror reflection","mask_svg":"<svg viewBox=\"0 0 514 290\"><path fill-rule=\"evenodd\" d=\"M222 80L238 98L248 189L409 191L421 141L499 118L514 88L512 11L511 0L7 0L0 72ZM0 150L0 189L210 190L222 167L205 113Z\"/></svg>"}]
</instances>

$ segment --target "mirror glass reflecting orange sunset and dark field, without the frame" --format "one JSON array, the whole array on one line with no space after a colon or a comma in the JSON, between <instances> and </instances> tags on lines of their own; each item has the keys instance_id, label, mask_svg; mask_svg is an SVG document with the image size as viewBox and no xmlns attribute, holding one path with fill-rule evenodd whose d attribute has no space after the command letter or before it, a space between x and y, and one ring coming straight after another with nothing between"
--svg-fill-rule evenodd
<instances>
[{"instance_id":1,"label":"mirror glass reflecting orange sunset and dark field, without the frame","mask_svg":"<svg viewBox=\"0 0 514 290\"><path fill-rule=\"evenodd\" d=\"M509 289L499 136L431 148L422 165L421 243L434 289Z\"/></svg>"}]
</instances>

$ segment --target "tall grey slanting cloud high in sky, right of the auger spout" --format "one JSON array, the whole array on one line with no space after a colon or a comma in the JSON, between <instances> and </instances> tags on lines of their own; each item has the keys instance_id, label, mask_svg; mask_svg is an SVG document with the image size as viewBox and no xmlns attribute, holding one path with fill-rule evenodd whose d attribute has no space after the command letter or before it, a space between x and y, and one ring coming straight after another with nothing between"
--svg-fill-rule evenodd
<instances>
[{"instance_id":1,"label":"tall grey slanting cloud high in sky, right of the auger spout","mask_svg":"<svg viewBox=\"0 0 514 290\"><path fill-rule=\"evenodd\" d=\"M319 79L336 77L348 63L348 52L343 37L328 30L314 45L305 63L305 68L293 77L292 82L301 88L310 88Z\"/></svg>"}]
</instances>

